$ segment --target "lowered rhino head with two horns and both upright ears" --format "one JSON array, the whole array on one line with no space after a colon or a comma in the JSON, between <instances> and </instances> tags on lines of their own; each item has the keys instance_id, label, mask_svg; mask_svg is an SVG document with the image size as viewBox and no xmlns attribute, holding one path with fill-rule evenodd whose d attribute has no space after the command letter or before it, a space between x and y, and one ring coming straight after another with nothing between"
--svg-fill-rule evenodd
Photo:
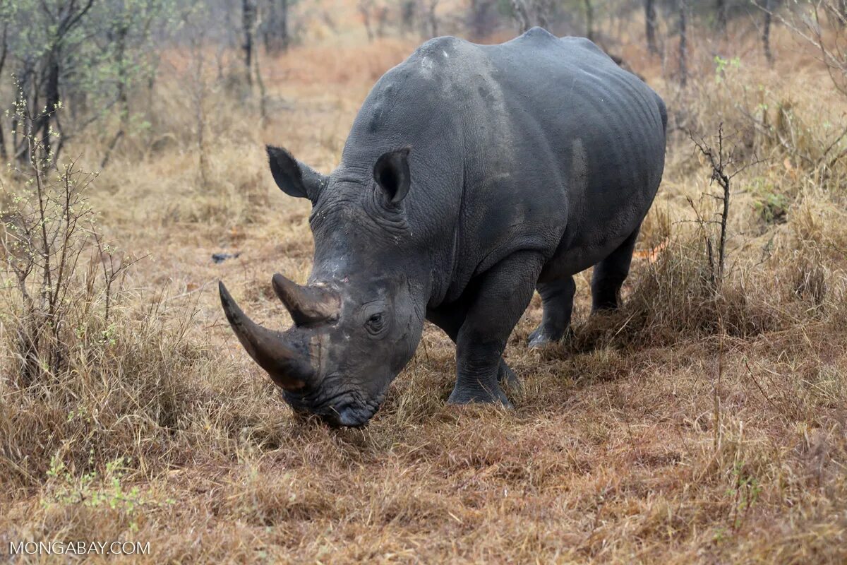
<instances>
[{"instance_id":1,"label":"lowered rhino head with two horns and both upright ears","mask_svg":"<svg viewBox=\"0 0 847 565\"><path fill-rule=\"evenodd\" d=\"M408 148L385 152L369 174L342 165L324 176L268 147L277 185L313 202L312 274L307 285L273 276L294 322L284 332L247 318L222 282L219 291L241 345L298 413L329 424L366 424L418 346L428 300L421 281L429 268L399 245L411 235L402 204L408 154Z\"/></svg>"}]
</instances>

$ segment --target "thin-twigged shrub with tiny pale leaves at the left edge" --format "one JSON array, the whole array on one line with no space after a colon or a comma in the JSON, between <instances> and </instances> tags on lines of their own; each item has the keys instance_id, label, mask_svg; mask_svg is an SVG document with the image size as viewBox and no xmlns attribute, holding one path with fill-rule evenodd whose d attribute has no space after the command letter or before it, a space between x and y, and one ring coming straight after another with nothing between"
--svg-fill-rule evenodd
<instances>
[{"instance_id":1,"label":"thin-twigged shrub with tiny pale leaves at the left edge","mask_svg":"<svg viewBox=\"0 0 847 565\"><path fill-rule=\"evenodd\" d=\"M20 186L3 185L0 245L11 275L3 297L21 385L61 374L74 339L108 340L110 307L129 264L97 233L85 198L96 174L75 161L55 163L50 145L36 137L40 120L19 108L28 163L14 171ZM98 324L90 325L97 308Z\"/></svg>"}]
</instances>

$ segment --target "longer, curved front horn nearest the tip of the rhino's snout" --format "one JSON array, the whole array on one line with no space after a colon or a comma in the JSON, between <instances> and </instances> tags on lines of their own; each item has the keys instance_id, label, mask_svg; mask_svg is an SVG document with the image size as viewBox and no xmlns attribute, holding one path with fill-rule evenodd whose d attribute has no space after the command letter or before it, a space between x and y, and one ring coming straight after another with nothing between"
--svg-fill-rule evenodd
<instances>
[{"instance_id":1,"label":"longer, curved front horn nearest the tip of the rhino's snout","mask_svg":"<svg viewBox=\"0 0 847 565\"><path fill-rule=\"evenodd\" d=\"M285 334L263 328L247 318L222 281L218 283L218 290L226 319L253 361L286 391L306 386L314 378L307 347L297 347L289 343Z\"/></svg>"}]
</instances>

